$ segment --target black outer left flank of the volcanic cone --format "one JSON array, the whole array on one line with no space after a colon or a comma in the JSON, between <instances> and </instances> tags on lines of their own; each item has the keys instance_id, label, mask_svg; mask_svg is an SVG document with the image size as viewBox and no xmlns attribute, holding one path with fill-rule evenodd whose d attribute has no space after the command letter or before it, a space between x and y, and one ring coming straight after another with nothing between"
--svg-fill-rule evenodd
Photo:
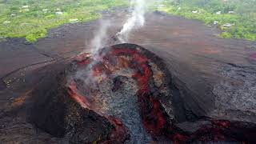
<instances>
[{"instance_id":1,"label":"black outer left flank of the volcanic cone","mask_svg":"<svg viewBox=\"0 0 256 144\"><path fill-rule=\"evenodd\" d=\"M107 139L114 126L106 118L82 108L70 98L65 86L65 73L61 72L50 80L33 92L36 97L33 98L30 122L54 137L74 143Z\"/></svg>"}]
</instances>

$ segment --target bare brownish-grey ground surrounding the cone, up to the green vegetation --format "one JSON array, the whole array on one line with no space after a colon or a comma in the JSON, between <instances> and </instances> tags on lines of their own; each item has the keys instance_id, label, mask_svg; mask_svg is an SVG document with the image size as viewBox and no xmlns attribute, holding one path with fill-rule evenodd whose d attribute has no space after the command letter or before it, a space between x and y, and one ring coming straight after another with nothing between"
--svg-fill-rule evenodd
<instances>
[{"instance_id":1,"label":"bare brownish-grey ground surrounding the cone, up to the green vegetation","mask_svg":"<svg viewBox=\"0 0 256 144\"><path fill-rule=\"evenodd\" d=\"M106 12L104 18L113 24L109 31L112 37L122 28L126 11ZM14 138L57 142L26 122L26 106L21 105L26 103L33 87L53 73L50 63L61 63L82 50L90 50L98 26L99 21L66 24L50 30L46 38L34 44L22 38L0 43L2 142ZM186 118L186 114L194 114L197 118L255 123L256 42L217 38L217 34L219 30L202 22L154 12L146 14L146 26L134 30L130 43L144 46L165 60L174 82L182 90L182 100L177 103L181 111L177 114L178 122L193 119ZM27 133L23 134L24 131Z\"/></svg>"}]
</instances>

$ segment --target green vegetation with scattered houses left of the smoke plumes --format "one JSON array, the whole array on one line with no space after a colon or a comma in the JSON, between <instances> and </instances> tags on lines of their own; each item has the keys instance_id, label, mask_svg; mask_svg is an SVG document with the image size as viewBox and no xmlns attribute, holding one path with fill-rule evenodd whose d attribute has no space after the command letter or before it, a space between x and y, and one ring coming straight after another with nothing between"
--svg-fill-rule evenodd
<instances>
[{"instance_id":1,"label":"green vegetation with scattered houses left of the smoke plumes","mask_svg":"<svg viewBox=\"0 0 256 144\"><path fill-rule=\"evenodd\" d=\"M0 0L0 37L35 42L68 22L100 18L100 10L127 6L126 0Z\"/></svg>"}]
</instances>

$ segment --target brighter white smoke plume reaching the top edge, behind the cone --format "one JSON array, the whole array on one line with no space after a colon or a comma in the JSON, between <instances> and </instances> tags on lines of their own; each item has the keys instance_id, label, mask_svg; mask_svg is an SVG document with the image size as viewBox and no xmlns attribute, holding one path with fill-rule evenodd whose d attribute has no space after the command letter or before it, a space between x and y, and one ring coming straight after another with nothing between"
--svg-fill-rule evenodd
<instances>
[{"instance_id":1,"label":"brighter white smoke plume reaching the top edge, behind the cone","mask_svg":"<svg viewBox=\"0 0 256 144\"><path fill-rule=\"evenodd\" d=\"M120 42L128 42L131 30L144 26L146 0L131 0L130 10L133 10L131 17L127 19L122 30L117 34Z\"/></svg>"}]
</instances>

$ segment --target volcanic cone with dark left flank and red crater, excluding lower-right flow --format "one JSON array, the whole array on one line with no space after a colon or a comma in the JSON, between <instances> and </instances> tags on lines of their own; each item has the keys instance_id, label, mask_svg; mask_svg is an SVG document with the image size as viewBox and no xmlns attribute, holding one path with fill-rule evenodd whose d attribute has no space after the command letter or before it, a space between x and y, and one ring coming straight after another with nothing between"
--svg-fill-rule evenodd
<instances>
[{"instance_id":1,"label":"volcanic cone with dark left flank and red crater, excluding lower-right flow","mask_svg":"<svg viewBox=\"0 0 256 144\"><path fill-rule=\"evenodd\" d=\"M74 142L151 142L174 117L165 67L155 54L132 44L79 55L58 76L58 90L52 92L57 97L36 102L31 119ZM92 130L92 136L82 136L85 130Z\"/></svg>"}]
</instances>

